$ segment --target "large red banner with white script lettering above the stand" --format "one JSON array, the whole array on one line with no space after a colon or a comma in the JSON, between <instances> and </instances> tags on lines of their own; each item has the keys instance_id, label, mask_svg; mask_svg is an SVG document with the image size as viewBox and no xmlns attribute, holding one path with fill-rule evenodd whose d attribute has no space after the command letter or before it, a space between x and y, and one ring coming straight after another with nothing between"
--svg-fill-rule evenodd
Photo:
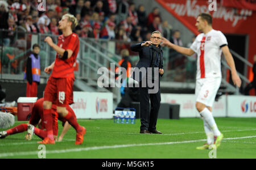
<instances>
[{"instance_id":1,"label":"large red banner with white script lettering above the stand","mask_svg":"<svg viewBox=\"0 0 256 170\"><path fill-rule=\"evenodd\" d=\"M235 8L224 7L221 1L216 0L156 0L156 2L195 35L199 34L195 24L201 12L209 12L212 15L212 25L216 30L223 33L249 35L249 62L253 63L253 56L256 54L256 11L242 9L240 13L244 15L238 15ZM226 4L227 2L229 1L226 1Z\"/></svg>"}]
</instances>

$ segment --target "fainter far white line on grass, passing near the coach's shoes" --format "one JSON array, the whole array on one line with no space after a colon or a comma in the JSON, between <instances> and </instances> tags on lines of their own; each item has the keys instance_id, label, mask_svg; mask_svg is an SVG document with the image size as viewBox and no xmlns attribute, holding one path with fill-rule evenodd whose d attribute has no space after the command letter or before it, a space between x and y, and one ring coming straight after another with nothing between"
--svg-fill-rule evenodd
<instances>
[{"instance_id":1,"label":"fainter far white line on grass, passing near the coach's shoes","mask_svg":"<svg viewBox=\"0 0 256 170\"><path fill-rule=\"evenodd\" d=\"M223 130L221 132L232 132L232 131L254 131L256 129L238 129L238 130ZM101 131L91 131L93 133L101 132ZM117 134L136 134L136 135L144 135L140 133L125 133L125 132L110 132L110 133L117 133ZM188 132L188 133L170 133L170 134L161 134L161 135L186 135L186 134L198 134L198 133L205 133L204 131L195 131L195 132ZM151 134L154 135L154 134ZM156 134L159 135L159 134ZM75 139L63 139L63 141L75 141ZM16 146L16 145L31 145L36 144L35 142L16 142L16 143L4 143L0 144L0 146Z\"/></svg>"}]
</instances>

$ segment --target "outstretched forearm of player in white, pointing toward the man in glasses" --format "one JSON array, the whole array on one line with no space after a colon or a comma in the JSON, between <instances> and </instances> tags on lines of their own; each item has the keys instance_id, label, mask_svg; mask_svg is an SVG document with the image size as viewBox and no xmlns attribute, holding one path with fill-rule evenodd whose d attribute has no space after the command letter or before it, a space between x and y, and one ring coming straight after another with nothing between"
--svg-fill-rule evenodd
<instances>
[{"instance_id":1,"label":"outstretched forearm of player in white, pointing toward the man in glasses","mask_svg":"<svg viewBox=\"0 0 256 170\"><path fill-rule=\"evenodd\" d=\"M191 48L185 48L183 46L175 45L164 37L162 38L162 45L167 46L168 48L172 48L176 50L176 52L187 56L192 56L195 53Z\"/></svg>"}]
</instances>

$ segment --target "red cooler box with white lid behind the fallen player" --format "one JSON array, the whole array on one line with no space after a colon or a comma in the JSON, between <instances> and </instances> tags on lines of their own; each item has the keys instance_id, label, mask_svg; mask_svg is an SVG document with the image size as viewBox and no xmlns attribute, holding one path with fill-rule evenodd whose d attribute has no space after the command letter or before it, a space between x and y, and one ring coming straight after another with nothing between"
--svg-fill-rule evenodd
<instances>
[{"instance_id":1,"label":"red cooler box with white lid behind the fallen player","mask_svg":"<svg viewBox=\"0 0 256 170\"><path fill-rule=\"evenodd\" d=\"M32 113L32 108L38 100L38 97L19 97L18 105L18 121L27 121L28 114Z\"/></svg>"}]
</instances>

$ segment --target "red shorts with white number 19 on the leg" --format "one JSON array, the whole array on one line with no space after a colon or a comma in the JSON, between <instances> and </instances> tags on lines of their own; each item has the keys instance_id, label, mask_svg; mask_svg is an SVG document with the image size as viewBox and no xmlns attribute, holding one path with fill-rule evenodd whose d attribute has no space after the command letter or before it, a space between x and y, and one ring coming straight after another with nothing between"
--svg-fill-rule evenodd
<instances>
[{"instance_id":1,"label":"red shorts with white number 19 on the leg","mask_svg":"<svg viewBox=\"0 0 256 170\"><path fill-rule=\"evenodd\" d=\"M44 100L56 103L58 107L66 107L73 103L73 78L50 77L44 91Z\"/></svg>"}]
</instances>

